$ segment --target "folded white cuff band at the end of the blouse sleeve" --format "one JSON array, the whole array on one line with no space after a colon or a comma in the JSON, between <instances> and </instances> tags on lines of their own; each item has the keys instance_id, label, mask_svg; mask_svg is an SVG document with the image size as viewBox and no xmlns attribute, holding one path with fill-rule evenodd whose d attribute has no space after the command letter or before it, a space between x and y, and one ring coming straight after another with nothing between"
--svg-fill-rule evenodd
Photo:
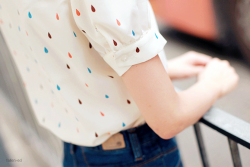
<instances>
[{"instance_id":1,"label":"folded white cuff band at the end of the blouse sleeve","mask_svg":"<svg viewBox=\"0 0 250 167\"><path fill-rule=\"evenodd\" d=\"M122 76L132 65L155 57L166 43L158 31L150 30L135 43L117 52L109 52L103 58L119 76Z\"/></svg>"}]
</instances>

